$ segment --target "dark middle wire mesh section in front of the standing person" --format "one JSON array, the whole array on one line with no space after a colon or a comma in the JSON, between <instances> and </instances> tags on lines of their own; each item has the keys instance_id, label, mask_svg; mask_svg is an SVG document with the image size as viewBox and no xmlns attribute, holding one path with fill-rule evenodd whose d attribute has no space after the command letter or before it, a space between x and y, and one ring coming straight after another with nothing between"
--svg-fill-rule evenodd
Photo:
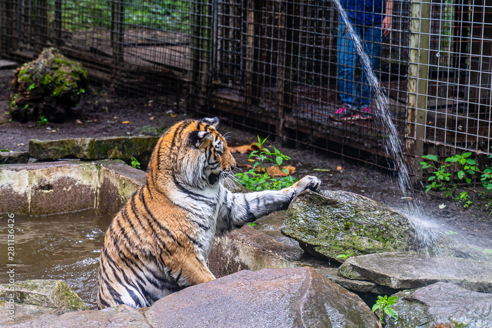
<instances>
[{"instance_id":1,"label":"dark middle wire mesh section in front of the standing person","mask_svg":"<svg viewBox=\"0 0 492 328\"><path fill-rule=\"evenodd\" d=\"M391 98L390 115L403 136L410 4L392 3L393 29L377 41L381 64L374 71ZM343 107L337 39L338 11L332 1L219 0L215 78L203 112L321 149L342 151L333 147L334 141L357 149L381 144L376 119L335 118ZM355 60L353 68L356 81L361 62ZM370 101L366 105L376 108Z\"/></svg>"}]
</instances>

